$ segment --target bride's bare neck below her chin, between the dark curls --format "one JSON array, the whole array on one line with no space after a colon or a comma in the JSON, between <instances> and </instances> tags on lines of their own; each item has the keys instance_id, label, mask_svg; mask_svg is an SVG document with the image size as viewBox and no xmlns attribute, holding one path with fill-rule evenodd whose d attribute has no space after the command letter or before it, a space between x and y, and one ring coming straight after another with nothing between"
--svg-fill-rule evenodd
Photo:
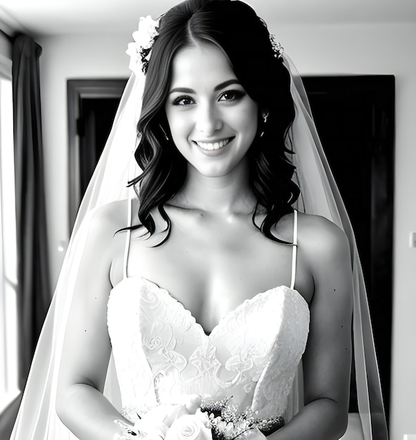
<instances>
[{"instance_id":1,"label":"bride's bare neck below her chin, between the dark curls","mask_svg":"<svg viewBox=\"0 0 416 440\"><path fill-rule=\"evenodd\" d=\"M203 176L188 165L186 181L172 203L188 209L223 214L251 214L256 198L249 188L248 164L240 162L225 176Z\"/></svg>"}]
</instances>

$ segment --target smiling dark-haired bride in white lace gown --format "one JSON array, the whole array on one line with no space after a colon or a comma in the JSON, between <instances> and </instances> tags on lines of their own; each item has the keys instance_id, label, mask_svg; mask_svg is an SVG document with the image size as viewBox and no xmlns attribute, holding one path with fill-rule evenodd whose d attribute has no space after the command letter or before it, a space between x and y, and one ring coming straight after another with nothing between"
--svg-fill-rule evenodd
<instances>
[{"instance_id":1,"label":"smiling dark-haired bride in white lace gown","mask_svg":"<svg viewBox=\"0 0 416 440\"><path fill-rule=\"evenodd\" d=\"M339 439L357 286L342 229L292 208L299 189L290 150L306 211L308 171L296 156L307 153L298 147L300 100L282 48L240 1L189 0L163 15L134 54L122 109L136 112L139 68L146 79L135 156L143 172L135 177L130 162L117 177L131 180L138 198L109 195L103 184L116 178L107 165L129 163L116 148L126 141L121 115L64 265L59 289L70 294L56 299L51 405L56 394L60 420L81 440L155 429L169 436L172 408L195 413L186 397L195 394L258 411L267 426L254 424L256 437ZM103 395L111 354L121 413ZM39 423L39 408L22 438L28 429L34 439L69 435L53 408Z\"/></svg>"}]
</instances>

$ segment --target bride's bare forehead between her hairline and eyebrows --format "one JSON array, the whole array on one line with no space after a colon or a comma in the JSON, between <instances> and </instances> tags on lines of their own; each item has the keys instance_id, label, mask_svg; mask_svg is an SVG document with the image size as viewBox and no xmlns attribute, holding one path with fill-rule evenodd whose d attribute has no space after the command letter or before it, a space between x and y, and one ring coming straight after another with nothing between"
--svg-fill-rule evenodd
<instances>
[{"instance_id":1,"label":"bride's bare forehead between her hairline and eyebrows","mask_svg":"<svg viewBox=\"0 0 416 440\"><path fill-rule=\"evenodd\" d=\"M181 48L171 65L171 86L219 84L235 79L233 67L222 49L215 44L203 43Z\"/></svg>"}]
</instances>

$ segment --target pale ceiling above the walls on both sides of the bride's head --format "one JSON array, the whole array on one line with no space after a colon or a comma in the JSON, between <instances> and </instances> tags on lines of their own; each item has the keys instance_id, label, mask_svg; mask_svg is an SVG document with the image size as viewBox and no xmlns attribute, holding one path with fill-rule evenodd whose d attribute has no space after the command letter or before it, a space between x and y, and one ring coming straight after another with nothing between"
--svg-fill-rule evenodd
<instances>
[{"instance_id":1,"label":"pale ceiling above the walls on both sides of the bride's head","mask_svg":"<svg viewBox=\"0 0 416 440\"><path fill-rule=\"evenodd\" d=\"M178 0L0 0L6 33L33 36L131 32L138 17L158 17ZM416 0L247 0L268 22L414 22ZM2 25L1 25L2 23Z\"/></svg>"}]
</instances>

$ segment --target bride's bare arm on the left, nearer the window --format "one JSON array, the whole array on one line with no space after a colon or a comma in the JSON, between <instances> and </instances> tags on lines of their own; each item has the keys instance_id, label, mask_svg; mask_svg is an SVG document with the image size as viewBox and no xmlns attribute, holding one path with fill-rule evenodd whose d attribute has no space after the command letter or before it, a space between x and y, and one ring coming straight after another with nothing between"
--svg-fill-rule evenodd
<instances>
[{"instance_id":1,"label":"bride's bare arm on the left, nearer the window","mask_svg":"<svg viewBox=\"0 0 416 440\"><path fill-rule=\"evenodd\" d=\"M65 332L56 410L80 440L112 440L122 433L114 422L122 416L103 396L111 352L107 303L117 228L111 205L94 214Z\"/></svg>"}]
</instances>

